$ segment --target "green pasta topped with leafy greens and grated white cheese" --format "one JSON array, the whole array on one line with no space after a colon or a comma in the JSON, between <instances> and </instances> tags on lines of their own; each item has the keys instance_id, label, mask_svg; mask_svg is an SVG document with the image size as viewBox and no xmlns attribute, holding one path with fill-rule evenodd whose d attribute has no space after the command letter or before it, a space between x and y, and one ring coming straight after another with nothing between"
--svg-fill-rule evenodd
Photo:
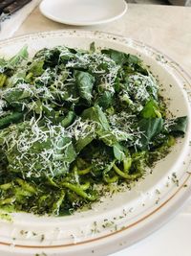
<instances>
[{"instance_id":1,"label":"green pasta topped with leafy greens and grated white cheese","mask_svg":"<svg viewBox=\"0 0 191 256\"><path fill-rule=\"evenodd\" d=\"M92 43L0 58L0 209L63 216L137 181L186 131L166 113L131 54Z\"/></svg>"}]
</instances>

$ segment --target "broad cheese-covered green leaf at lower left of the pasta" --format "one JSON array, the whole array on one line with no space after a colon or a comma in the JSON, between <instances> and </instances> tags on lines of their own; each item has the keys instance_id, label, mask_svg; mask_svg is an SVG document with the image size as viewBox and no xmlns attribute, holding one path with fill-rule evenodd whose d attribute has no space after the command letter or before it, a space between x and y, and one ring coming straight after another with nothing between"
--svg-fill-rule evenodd
<instances>
[{"instance_id":1,"label":"broad cheese-covered green leaf at lower left of the pasta","mask_svg":"<svg viewBox=\"0 0 191 256\"><path fill-rule=\"evenodd\" d=\"M20 132L20 126L16 125L11 127L11 132L15 138L11 138L4 146L7 148L5 152L10 173L22 174L23 177L31 179L68 173L70 163L76 158L76 152L72 139L61 128L54 127L52 134L46 127L35 126L32 129L30 123L26 122L25 130ZM20 147L20 143L25 145L25 150Z\"/></svg>"}]
</instances>

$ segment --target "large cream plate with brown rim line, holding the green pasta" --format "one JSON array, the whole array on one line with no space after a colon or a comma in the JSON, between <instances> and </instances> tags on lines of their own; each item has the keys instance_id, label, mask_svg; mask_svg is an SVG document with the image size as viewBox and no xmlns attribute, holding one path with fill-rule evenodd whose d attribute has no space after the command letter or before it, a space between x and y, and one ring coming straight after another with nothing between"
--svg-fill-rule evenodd
<instances>
[{"instance_id":1,"label":"large cream plate with brown rim line, holding the green pasta","mask_svg":"<svg viewBox=\"0 0 191 256\"><path fill-rule=\"evenodd\" d=\"M142 58L162 84L161 94L170 99L169 110L175 116L187 115L190 130L190 78L170 58L138 41L98 32L48 32L0 42L0 56L12 56L25 44L33 55L43 47L63 44L88 49L93 41L96 47ZM190 140L187 132L152 175L140 179L130 191L103 198L91 210L60 218L14 213L12 221L0 220L0 255L101 256L136 243L168 221L189 197Z\"/></svg>"}]
</instances>

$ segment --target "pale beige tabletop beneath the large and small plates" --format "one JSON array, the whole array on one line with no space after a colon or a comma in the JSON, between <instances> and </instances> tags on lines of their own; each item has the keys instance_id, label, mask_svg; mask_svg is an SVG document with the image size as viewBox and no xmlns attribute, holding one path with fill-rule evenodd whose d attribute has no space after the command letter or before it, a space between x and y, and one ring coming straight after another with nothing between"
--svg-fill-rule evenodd
<instances>
[{"instance_id":1,"label":"pale beige tabletop beneath the large and small plates","mask_svg":"<svg viewBox=\"0 0 191 256\"><path fill-rule=\"evenodd\" d=\"M78 28L55 23L37 8L14 35L69 28L109 32L141 40L174 58L187 72L191 71L191 8L131 4L128 12L115 22ZM154 234L110 256L190 256L190 227L191 201Z\"/></svg>"}]
</instances>

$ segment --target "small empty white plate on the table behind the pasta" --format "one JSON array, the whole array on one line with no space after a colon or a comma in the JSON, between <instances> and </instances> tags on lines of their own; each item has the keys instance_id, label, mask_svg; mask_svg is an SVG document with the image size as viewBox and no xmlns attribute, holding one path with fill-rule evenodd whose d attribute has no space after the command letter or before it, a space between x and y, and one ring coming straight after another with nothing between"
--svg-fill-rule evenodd
<instances>
[{"instance_id":1,"label":"small empty white plate on the table behind the pasta","mask_svg":"<svg viewBox=\"0 0 191 256\"><path fill-rule=\"evenodd\" d=\"M54 21L87 26L107 23L127 11L124 0L44 0L40 11Z\"/></svg>"}]
</instances>

